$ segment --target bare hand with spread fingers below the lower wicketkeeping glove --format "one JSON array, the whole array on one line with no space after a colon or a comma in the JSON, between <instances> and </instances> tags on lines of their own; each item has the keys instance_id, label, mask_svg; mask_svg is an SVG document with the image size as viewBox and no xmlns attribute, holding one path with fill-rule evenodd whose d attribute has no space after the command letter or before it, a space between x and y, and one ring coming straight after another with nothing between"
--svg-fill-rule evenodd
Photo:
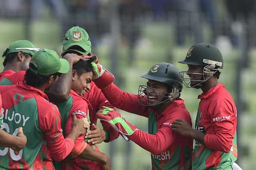
<instances>
[{"instance_id":1,"label":"bare hand with spread fingers below the lower wicketkeeping glove","mask_svg":"<svg viewBox=\"0 0 256 170\"><path fill-rule=\"evenodd\" d=\"M102 143L106 139L105 131L101 130L95 124L92 124L91 131L86 133L85 139L89 139L88 143Z\"/></svg>"}]
</instances>

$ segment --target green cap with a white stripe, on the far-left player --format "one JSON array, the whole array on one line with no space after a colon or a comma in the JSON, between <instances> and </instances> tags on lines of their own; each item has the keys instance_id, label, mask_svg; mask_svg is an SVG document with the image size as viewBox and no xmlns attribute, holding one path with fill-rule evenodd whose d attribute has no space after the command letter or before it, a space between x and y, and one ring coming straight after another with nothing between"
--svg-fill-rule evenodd
<instances>
[{"instance_id":1,"label":"green cap with a white stripe, on the far-left player","mask_svg":"<svg viewBox=\"0 0 256 170\"><path fill-rule=\"evenodd\" d=\"M3 57L6 57L7 55L14 53L14 52L24 52L30 55L34 55L35 52L39 51L40 49L35 48L35 46L28 40L18 40L9 46L4 52Z\"/></svg>"}]
</instances>

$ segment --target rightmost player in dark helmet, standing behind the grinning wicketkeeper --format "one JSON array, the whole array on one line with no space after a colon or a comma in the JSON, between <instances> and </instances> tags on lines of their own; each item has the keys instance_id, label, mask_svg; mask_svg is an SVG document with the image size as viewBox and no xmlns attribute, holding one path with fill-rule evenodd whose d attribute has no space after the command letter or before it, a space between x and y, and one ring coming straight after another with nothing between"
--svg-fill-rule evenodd
<instances>
[{"instance_id":1,"label":"rightmost player in dark helmet, standing behind the grinning wicketkeeper","mask_svg":"<svg viewBox=\"0 0 256 170\"><path fill-rule=\"evenodd\" d=\"M173 131L195 140L193 170L232 170L237 160L237 109L225 85L218 81L222 54L216 46L198 43L179 63L188 65L188 70L182 72L184 84L203 93L198 96L195 130L186 121L176 119Z\"/></svg>"}]
</instances>

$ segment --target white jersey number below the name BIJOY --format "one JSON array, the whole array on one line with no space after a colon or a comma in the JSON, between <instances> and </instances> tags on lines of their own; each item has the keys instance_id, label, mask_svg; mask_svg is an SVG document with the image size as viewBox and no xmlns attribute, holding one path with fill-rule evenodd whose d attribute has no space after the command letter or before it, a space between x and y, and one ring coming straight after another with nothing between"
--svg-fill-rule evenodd
<instances>
[{"instance_id":1,"label":"white jersey number below the name BIJOY","mask_svg":"<svg viewBox=\"0 0 256 170\"><path fill-rule=\"evenodd\" d=\"M6 132L10 133L10 128L8 124L3 123L2 129L6 129ZM17 136L17 134L18 134L18 128L15 129L12 135ZM5 148L3 150L0 149L0 156L6 155L8 153L8 150L10 150L10 155L13 161L19 161L22 158L22 152L23 152L22 150L20 150L19 154L16 155L14 150L12 150L11 148Z\"/></svg>"}]
</instances>

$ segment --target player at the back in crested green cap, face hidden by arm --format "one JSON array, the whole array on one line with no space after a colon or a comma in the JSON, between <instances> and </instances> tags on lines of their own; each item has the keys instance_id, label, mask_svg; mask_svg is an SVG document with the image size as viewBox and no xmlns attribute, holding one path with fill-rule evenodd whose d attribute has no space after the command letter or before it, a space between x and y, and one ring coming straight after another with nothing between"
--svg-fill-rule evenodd
<instances>
[{"instance_id":1,"label":"player at the back in crested green cap, face hidden by arm","mask_svg":"<svg viewBox=\"0 0 256 170\"><path fill-rule=\"evenodd\" d=\"M62 56L65 56L68 53L77 54L79 56L89 57L91 55L91 41L89 39L88 33L81 27L75 26L70 28L65 36L63 37L63 49ZM59 88L71 88L71 84L68 87L68 84L59 85ZM57 87L57 86L56 86ZM103 130L99 129L96 126L97 118L96 112L102 109L104 106L113 107L105 96L102 94L102 91L97 88L94 82L91 82L90 90L87 91L84 95L84 98L89 101L92 107L89 107L89 118L90 118L90 128L86 134L86 139L88 143L97 144L104 142L110 142L116 139L119 136L119 133L115 131L109 124L103 123ZM63 100L67 100L68 95L63 97ZM97 146L94 146L96 149Z\"/></svg>"}]
</instances>

